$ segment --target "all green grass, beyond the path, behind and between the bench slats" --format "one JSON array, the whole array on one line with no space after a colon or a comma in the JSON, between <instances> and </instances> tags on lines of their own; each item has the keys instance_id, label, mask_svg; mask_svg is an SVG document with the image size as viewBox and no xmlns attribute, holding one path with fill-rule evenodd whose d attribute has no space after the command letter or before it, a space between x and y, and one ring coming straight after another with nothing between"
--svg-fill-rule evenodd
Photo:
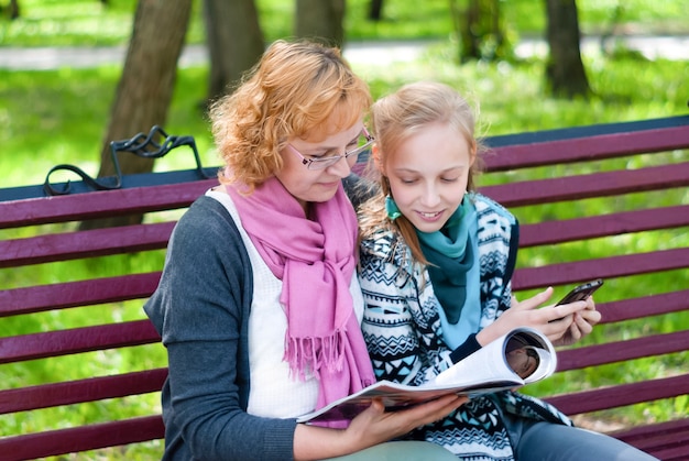
<instances>
[{"instance_id":1,"label":"all green grass, beyond the path, behind and between the bench slats","mask_svg":"<svg viewBox=\"0 0 689 461\"><path fill-rule=\"evenodd\" d=\"M6 45L110 45L124 44L130 33L133 0L111 0L103 10L96 0L22 0L24 18L9 23L0 20L0 44ZM579 0L584 31L605 30L611 11L619 3L625 8L622 19L627 29L680 30L686 24L687 12L681 1L592 1ZM291 34L292 2L260 0L266 39ZM353 63L356 70L371 85L374 97L397 86L417 79L446 81L480 102L482 132L488 135L518 131L581 125L589 123L638 120L687 113L689 95L689 67L687 63L649 62L631 53L615 56L586 56L584 64L595 96L584 100L559 100L544 97L544 63L528 59L512 63L480 63L457 66L450 24L447 19L447 0L423 3L387 1L386 19L379 24L365 21L367 1L348 2L347 28L350 40L409 40L438 41L413 65L363 66ZM423 8L419 7L423 6ZM543 30L542 3L531 0L503 2L505 17L521 34L540 33ZM78 8L77 8L78 7ZM76 8L76 9L75 9ZM78 11L78 14L74 12ZM189 42L203 41L198 1L188 34ZM423 19L423 20L420 20ZM633 78L631 78L633 76ZM45 72L0 70L0 172L2 187L40 184L48 168L58 163L79 165L90 174L98 169L101 139L110 110L120 68L103 66L95 69ZM205 165L217 164L208 131L208 123L198 109L205 97L207 69L181 69L173 105L165 129L168 133L193 135ZM597 165L558 168L533 168L524 172L486 175L481 184L495 184L531 177L553 177L586 173L593 168L638 168L650 164L686 162L686 151L621 158ZM190 155L174 153L158 169L190 167ZM573 168L573 169L572 169ZM598 215L611 209L632 209L649 202L653 206L689 202L689 191L632 194L612 199L579 200L559 206L517 208L514 212L522 222ZM167 217L150 216L149 220ZM69 229L73 224L65 224ZM37 229L4 230L0 238L29 237ZM534 266L547 261L594 257L608 252L652 251L658 248L689 245L686 229L645 232L598 239L587 244L566 244L545 249L525 250L520 264ZM146 252L131 256L108 256L78 260L17 270L0 270L0 289L58 283L91 277L103 277L131 272L156 271L162 267L163 252ZM620 297L664 293L687 285L685 273L675 271L652 276L611 279L597 296L599 303L614 294ZM558 287L558 294L566 287ZM520 294L522 297L529 293ZM0 319L0 336L31 333L51 328L77 328L106 323L113 320L144 318L143 300L112 305L67 309L63 312L44 312L18 318ZM602 334L615 338L639 337L648 332L670 331L677 325L687 325L687 312L661 316L650 320L628 321L600 329L584 340L594 342ZM687 353L672 354L661 360L639 360L624 365L605 366L595 373L589 370L568 372L546 380L526 391L537 395L568 392L588 386L625 380L649 378L686 370ZM127 372L165 365L165 353L160 344L130 348L118 353L98 352L52 360L37 360L22 364L0 365L0 381L4 387L39 384ZM0 433L28 432L39 428L57 428L84 421L102 421L112 417L127 417L160 409L157 394L78 405L63 409L46 409L30 414L0 416ZM687 398L625 408L598 415L600 419L621 424L643 422L687 413ZM153 459L160 457L161 442L135 448L112 449L87 453L89 459ZM70 459L70 458L68 458ZM76 459L76 458L75 458Z\"/></svg>"}]
</instances>

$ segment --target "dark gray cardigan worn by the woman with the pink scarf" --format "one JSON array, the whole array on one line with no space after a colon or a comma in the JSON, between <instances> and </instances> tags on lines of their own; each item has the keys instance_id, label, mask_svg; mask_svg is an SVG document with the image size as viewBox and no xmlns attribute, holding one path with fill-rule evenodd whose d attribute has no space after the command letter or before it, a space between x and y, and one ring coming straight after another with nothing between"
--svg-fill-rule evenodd
<instances>
[{"instance_id":1,"label":"dark gray cardigan worn by the woman with the pink scarf","mask_svg":"<svg viewBox=\"0 0 689 461\"><path fill-rule=\"evenodd\" d=\"M167 348L164 460L292 460L296 421L247 413L251 263L237 226L197 199L171 237L144 310Z\"/></svg>"}]
</instances>

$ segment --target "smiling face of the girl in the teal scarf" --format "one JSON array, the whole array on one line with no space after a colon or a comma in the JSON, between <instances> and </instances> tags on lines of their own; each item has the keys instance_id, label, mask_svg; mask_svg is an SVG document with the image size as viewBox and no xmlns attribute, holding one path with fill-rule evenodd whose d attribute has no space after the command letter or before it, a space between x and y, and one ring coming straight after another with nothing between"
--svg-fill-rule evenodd
<instances>
[{"instance_id":1,"label":"smiling face of the girl in the teal scarf","mask_svg":"<svg viewBox=\"0 0 689 461\"><path fill-rule=\"evenodd\" d=\"M418 230L435 232L461 204L473 160L458 130L433 123L389 153L383 174L400 211Z\"/></svg>"}]
</instances>

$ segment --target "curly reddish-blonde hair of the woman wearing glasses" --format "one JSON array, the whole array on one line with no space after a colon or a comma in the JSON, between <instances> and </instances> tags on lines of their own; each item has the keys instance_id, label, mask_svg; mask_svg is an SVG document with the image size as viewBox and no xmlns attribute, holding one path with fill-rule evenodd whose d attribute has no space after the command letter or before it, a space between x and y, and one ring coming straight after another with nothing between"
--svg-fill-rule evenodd
<instances>
[{"instance_id":1,"label":"curly reddish-blonde hair of the woman wearing glasses","mask_svg":"<svg viewBox=\"0 0 689 461\"><path fill-rule=\"evenodd\" d=\"M289 136L305 138L337 110L344 130L371 106L367 84L338 48L310 41L276 41L237 90L210 108L212 134L226 168L222 183L249 190L282 168Z\"/></svg>"}]
</instances>

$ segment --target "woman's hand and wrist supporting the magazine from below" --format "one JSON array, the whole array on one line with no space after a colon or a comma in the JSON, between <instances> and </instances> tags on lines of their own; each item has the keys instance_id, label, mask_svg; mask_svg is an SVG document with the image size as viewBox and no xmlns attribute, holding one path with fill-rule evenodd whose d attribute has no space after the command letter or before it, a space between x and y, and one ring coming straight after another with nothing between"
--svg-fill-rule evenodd
<instances>
[{"instance_id":1,"label":"woman's hand and wrist supporting the magazine from below","mask_svg":"<svg viewBox=\"0 0 689 461\"><path fill-rule=\"evenodd\" d=\"M352 419L347 429L297 425L294 436L295 460L335 458L386 442L445 418L467 400L467 397L452 394L397 411L385 411L382 402L374 400Z\"/></svg>"}]
</instances>

